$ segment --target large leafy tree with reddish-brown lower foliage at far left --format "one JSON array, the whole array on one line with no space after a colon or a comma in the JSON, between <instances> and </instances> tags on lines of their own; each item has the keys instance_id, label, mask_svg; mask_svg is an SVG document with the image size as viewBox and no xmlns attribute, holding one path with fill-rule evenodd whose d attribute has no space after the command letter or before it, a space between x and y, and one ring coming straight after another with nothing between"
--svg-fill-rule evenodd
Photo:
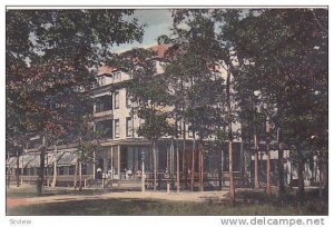
<instances>
[{"instance_id":1,"label":"large leafy tree with reddish-brown lower foliage at far left","mask_svg":"<svg viewBox=\"0 0 334 227\"><path fill-rule=\"evenodd\" d=\"M10 137L43 138L38 194L52 137L76 137L75 124L87 114L82 90L94 81L90 69L104 62L112 45L140 41L143 27L124 18L130 14L132 10L7 11L7 130L16 131Z\"/></svg>"}]
</instances>

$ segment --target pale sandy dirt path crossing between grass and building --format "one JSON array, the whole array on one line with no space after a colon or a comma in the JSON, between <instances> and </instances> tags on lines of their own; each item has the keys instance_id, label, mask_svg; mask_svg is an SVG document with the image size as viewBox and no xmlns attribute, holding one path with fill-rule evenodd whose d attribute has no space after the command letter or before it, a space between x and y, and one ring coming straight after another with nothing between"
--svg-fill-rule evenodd
<instances>
[{"instance_id":1,"label":"pale sandy dirt path crossing between grass and building","mask_svg":"<svg viewBox=\"0 0 334 227\"><path fill-rule=\"evenodd\" d=\"M7 207L27 206L36 204L65 203L72 200L88 199L109 199L109 198L127 198L127 199L163 199L174 201L219 201L226 199L227 191L202 191L202 193L141 193L141 191L125 191L125 193L106 193L101 195L59 195L31 198L7 198Z\"/></svg>"}]
</instances>

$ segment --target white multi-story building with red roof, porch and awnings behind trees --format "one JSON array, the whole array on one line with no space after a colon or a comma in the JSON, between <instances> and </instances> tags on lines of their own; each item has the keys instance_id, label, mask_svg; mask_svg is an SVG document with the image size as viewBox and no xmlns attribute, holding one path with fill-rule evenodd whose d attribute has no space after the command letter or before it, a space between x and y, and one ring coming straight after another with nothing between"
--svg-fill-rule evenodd
<instances>
[{"instance_id":1,"label":"white multi-story building with red roof, porch and awnings behind trees","mask_svg":"<svg viewBox=\"0 0 334 227\"><path fill-rule=\"evenodd\" d=\"M156 53L156 69L157 75L164 72L163 59L168 46L158 45L150 48ZM215 72L215 76L224 77L224 71ZM217 75L218 73L218 75ZM134 108L136 103L132 102L127 90L127 81L131 80L130 75L112 69L110 67L101 67L97 75L97 86L90 91L94 99L92 115L94 115L94 130L99 135L99 144L102 149L94 152L94 161L91 164L81 164L80 174L84 179L98 179L108 177L112 180L122 180L125 178L139 179L136 176L138 170L143 170L143 162L145 164L145 171L147 177L151 177L153 172L153 155L150 152L150 141L146 138L139 137L137 130L143 122ZM181 172L181 180L187 178L191 169L191 154L193 139L191 130L188 130L187 124L180 124L180 130L186 132L185 150L184 144L177 141L171 137L160 138L157 144L157 169L158 176L164 176L166 169L170 176L176 174L177 161L176 150L179 151L179 169ZM234 130L239 129L239 125L234 125ZM31 139L31 144L40 144L40 138ZM178 146L178 149L177 149ZM32 148L31 148L32 147ZM9 174L14 179L14 172L20 174L22 181L35 181L39 171L39 154L38 149L30 146L26 154L19 157L7 159ZM245 160L243 152L245 146L239 140L233 144L234 152L234 170L240 172L244 165L252 162L252 157L248 161ZM78 145L59 145L48 148L46 156L46 179L51 181L53 171L57 171L57 185L72 185L75 176L75 165L77 164L76 151ZM213 185L217 185L218 171L228 172L228 155L227 146L220 151L206 150L204 160L204 171L206 179ZM219 154L220 152L220 154ZM198 171L198 154L195 155L195 172ZM19 169L17 164L19 162ZM246 164L247 162L247 164ZM223 165L220 165L223 164ZM130 170L130 171L127 171ZM126 176L126 171L131 176ZM138 176L139 177L139 176ZM225 179L228 177L225 174Z\"/></svg>"}]
</instances>

